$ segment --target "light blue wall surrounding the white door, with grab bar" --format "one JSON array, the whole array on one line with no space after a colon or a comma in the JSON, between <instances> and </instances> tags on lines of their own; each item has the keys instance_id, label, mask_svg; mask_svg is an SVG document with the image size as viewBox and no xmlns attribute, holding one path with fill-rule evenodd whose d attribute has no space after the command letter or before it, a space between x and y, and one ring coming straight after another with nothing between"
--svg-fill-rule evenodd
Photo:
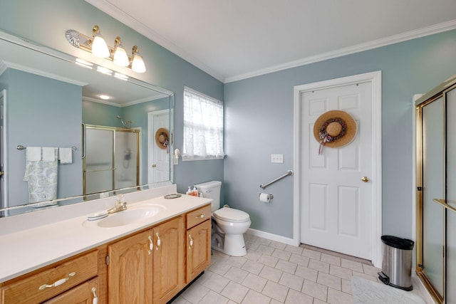
<instances>
[{"instance_id":1,"label":"light blue wall surrounding the white door, with grab bar","mask_svg":"<svg viewBox=\"0 0 456 304\"><path fill-rule=\"evenodd\" d=\"M293 178L259 184L293 169L294 86L382 71L383 234L412 238L412 97L456 73L456 31L376 48L298 68L228 83L224 87L225 203L252 217L252 228L293 236ZM272 153L284 164L271 164ZM266 191L265 191L266 192Z\"/></svg>"}]
</instances>

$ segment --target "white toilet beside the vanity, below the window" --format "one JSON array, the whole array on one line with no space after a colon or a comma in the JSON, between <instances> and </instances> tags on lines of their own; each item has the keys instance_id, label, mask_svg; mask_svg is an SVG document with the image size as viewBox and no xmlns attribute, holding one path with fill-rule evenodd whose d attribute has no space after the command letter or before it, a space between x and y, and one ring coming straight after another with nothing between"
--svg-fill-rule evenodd
<instances>
[{"instance_id":1,"label":"white toilet beside the vanity, below the window","mask_svg":"<svg viewBox=\"0 0 456 304\"><path fill-rule=\"evenodd\" d=\"M229 256L245 256L244 233L251 224L249 214L227 205L220 208L222 182L205 182L196 186L203 197L212 199L212 249Z\"/></svg>"}]
</instances>

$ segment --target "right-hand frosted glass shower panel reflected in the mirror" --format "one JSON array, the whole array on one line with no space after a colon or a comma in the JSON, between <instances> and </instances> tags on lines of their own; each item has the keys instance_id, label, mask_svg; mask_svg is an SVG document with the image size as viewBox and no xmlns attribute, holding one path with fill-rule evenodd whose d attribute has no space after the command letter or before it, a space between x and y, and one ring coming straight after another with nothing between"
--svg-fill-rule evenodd
<instances>
[{"instance_id":1,"label":"right-hand frosted glass shower panel reflected in the mirror","mask_svg":"<svg viewBox=\"0 0 456 304\"><path fill-rule=\"evenodd\" d=\"M138 133L115 132L115 188L138 186Z\"/></svg>"}]
</instances>

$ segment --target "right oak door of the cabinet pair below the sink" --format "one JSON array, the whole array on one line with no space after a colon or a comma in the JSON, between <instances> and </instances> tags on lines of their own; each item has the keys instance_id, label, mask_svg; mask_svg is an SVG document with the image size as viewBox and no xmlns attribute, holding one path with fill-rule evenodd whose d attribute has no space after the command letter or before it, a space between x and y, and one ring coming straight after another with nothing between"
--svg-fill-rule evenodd
<instances>
[{"instance_id":1,"label":"right oak door of the cabinet pair below the sink","mask_svg":"<svg viewBox=\"0 0 456 304\"><path fill-rule=\"evenodd\" d=\"M182 216L153 229L153 303L167 303L184 286L184 220Z\"/></svg>"}]
</instances>

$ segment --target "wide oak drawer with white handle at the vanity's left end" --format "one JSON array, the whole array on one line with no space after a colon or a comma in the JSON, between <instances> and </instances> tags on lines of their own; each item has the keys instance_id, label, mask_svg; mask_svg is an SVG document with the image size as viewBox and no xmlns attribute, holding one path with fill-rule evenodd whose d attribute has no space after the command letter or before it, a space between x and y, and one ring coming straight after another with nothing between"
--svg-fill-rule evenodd
<instances>
[{"instance_id":1,"label":"wide oak drawer with white handle at the vanity's left end","mask_svg":"<svg viewBox=\"0 0 456 304\"><path fill-rule=\"evenodd\" d=\"M57 264L1 289L2 303L41 303L98 274L98 251ZM46 284L56 286L45 287ZM41 290L40 290L41 287Z\"/></svg>"}]
</instances>

